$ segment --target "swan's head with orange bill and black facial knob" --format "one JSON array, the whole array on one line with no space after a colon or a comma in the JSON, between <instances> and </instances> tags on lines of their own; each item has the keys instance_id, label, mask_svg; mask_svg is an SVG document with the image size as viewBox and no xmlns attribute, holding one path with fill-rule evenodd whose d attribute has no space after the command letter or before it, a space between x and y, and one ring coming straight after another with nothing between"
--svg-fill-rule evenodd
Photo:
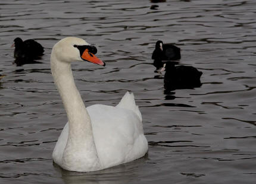
<instances>
[{"instance_id":1,"label":"swan's head with orange bill and black facial knob","mask_svg":"<svg viewBox=\"0 0 256 184\"><path fill-rule=\"evenodd\" d=\"M97 49L85 40L77 37L66 37L52 48L51 59L61 62L89 61L93 64L105 66L101 59L95 56Z\"/></svg>"}]
</instances>

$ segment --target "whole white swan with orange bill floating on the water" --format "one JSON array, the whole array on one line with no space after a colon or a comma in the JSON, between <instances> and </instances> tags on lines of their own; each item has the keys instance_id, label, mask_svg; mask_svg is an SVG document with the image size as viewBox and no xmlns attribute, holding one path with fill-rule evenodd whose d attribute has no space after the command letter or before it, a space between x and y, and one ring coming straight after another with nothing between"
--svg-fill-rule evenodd
<instances>
[{"instance_id":1,"label":"whole white swan with orange bill floating on the water","mask_svg":"<svg viewBox=\"0 0 256 184\"><path fill-rule=\"evenodd\" d=\"M85 107L74 83L71 62L105 65L95 53L96 47L76 37L62 39L52 48L52 76L68 118L52 158L66 170L101 170L143 157L148 151L141 112L133 94L127 92L115 107Z\"/></svg>"}]
</instances>

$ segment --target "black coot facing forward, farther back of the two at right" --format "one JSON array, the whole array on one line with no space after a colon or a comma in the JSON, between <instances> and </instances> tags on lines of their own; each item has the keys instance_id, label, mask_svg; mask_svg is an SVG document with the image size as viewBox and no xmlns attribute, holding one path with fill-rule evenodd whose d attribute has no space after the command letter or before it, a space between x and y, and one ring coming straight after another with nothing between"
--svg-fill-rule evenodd
<instances>
[{"instance_id":1,"label":"black coot facing forward, farther back of the two at right","mask_svg":"<svg viewBox=\"0 0 256 184\"><path fill-rule=\"evenodd\" d=\"M161 40L155 43L155 50L152 53L154 66L159 69L163 67L162 61L174 61L180 59L180 48L170 43L163 44Z\"/></svg>"}]
</instances>

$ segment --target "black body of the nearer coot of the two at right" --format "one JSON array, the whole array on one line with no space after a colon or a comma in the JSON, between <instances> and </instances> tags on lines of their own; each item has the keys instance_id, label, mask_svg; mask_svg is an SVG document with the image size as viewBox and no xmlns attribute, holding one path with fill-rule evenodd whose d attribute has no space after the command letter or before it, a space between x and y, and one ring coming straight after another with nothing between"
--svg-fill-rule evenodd
<instances>
[{"instance_id":1,"label":"black body of the nearer coot of the two at right","mask_svg":"<svg viewBox=\"0 0 256 184\"><path fill-rule=\"evenodd\" d=\"M193 66L175 66L171 62L166 63L166 74L164 74L164 88L166 90L190 89L200 87L201 71Z\"/></svg>"}]
</instances>

